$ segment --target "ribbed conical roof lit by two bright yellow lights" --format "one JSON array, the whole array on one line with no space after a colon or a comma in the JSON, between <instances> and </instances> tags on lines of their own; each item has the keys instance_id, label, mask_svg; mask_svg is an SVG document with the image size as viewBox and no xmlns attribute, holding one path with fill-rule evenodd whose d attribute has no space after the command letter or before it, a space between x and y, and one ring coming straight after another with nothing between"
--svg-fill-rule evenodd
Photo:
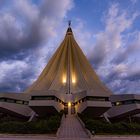
<instances>
[{"instance_id":1,"label":"ribbed conical roof lit by two bright yellow lights","mask_svg":"<svg viewBox=\"0 0 140 140\"><path fill-rule=\"evenodd\" d=\"M64 40L27 92L48 90L73 94L86 90L93 96L112 94L96 75L75 41L70 26Z\"/></svg>"}]
</instances>

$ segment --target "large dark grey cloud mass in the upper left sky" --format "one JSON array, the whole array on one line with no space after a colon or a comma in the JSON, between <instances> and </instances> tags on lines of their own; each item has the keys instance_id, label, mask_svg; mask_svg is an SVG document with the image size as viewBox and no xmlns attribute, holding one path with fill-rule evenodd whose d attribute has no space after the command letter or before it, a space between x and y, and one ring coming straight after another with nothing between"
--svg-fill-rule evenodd
<instances>
[{"instance_id":1,"label":"large dark grey cloud mass in the upper left sky","mask_svg":"<svg viewBox=\"0 0 140 140\"><path fill-rule=\"evenodd\" d=\"M3 1L1 1L3 3ZM5 2L6 3L6 2ZM11 4L11 5L10 5ZM26 51L35 50L54 34L54 28L71 9L70 0L12 0L0 9L0 59L18 59Z\"/></svg>"}]
</instances>

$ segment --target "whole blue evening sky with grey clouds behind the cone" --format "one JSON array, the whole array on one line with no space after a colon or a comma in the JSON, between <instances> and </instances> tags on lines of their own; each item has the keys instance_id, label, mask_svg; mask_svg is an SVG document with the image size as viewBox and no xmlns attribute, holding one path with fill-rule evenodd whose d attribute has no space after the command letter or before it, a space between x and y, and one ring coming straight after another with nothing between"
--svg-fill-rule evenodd
<instances>
[{"instance_id":1,"label":"whole blue evening sky with grey clouds behind the cone","mask_svg":"<svg viewBox=\"0 0 140 140\"><path fill-rule=\"evenodd\" d=\"M0 0L0 92L24 91L75 38L116 94L140 94L140 0Z\"/></svg>"}]
</instances>

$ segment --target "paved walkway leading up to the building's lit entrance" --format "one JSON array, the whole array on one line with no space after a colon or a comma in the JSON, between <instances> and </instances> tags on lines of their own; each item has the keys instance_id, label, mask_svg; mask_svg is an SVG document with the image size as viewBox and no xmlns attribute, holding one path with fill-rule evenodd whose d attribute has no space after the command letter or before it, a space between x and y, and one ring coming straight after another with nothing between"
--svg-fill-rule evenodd
<instances>
[{"instance_id":1,"label":"paved walkway leading up to the building's lit entrance","mask_svg":"<svg viewBox=\"0 0 140 140\"><path fill-rule=\"evenodd\" d=\"M63 119L58 138L61 139L89 139L75 115L68 115Z\"/></svg>"}]
</instances>

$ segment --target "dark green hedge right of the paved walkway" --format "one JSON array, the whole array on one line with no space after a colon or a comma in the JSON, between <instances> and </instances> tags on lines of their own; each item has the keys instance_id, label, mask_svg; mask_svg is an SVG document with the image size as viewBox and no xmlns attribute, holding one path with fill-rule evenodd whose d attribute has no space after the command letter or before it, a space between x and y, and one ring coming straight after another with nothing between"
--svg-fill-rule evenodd
<instances>
[{"instance_id":1,"label":"dark green hedge right of the paved walkway","mask_svg":"<svg viewBox=\"0 0 140 140\"><path fill-rule=\"evenodd\" d=\"M85 115L79 117L85 123L85 127L95 134L119 134L119 135L140 135L140 124L139 123L108 123L104 120L94 120L88 118Z\"/></svg>"}]
</instances>

